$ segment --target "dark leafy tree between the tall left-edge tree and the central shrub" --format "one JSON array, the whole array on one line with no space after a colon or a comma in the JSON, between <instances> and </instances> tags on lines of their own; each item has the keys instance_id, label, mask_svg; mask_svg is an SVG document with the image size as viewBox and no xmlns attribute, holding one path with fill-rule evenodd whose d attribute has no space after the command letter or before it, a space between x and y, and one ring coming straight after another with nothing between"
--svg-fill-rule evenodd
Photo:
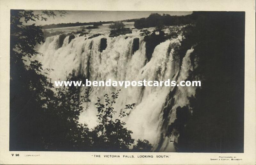
<instances>
[{"instance_id":1,"label":"dark leafy tree between the tall left-edge tree and the central shrub","mask_svg":"<svg viewBox=\"0 0 256 165\"><path fill-rule=\"evenodd\" d=\"M67 81L84 81L85 75L69 74ZM92 147L89 128L79 123L82 106L91 102L92 88L60 87L44 107L41 118L44 148L50 151L88 151Z\"/></svg>"}]
</instances>

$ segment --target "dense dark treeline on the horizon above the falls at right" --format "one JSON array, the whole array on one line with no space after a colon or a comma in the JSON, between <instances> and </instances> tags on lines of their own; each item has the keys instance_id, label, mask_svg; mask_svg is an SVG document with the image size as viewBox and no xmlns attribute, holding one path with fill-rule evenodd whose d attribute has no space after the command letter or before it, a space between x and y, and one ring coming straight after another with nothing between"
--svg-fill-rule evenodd
<instances>
[{"instance_id":1,"label":"dense dark treeline on the horizon above the falls at right","mask_svg":"<svg viewBox=\"0 0 256 165\"><path fill-rule=\"evenodd\" d=\"M160 15L152 13L148 18L140 18L134 21L134 27L137 29L155 27L159 25L173 26L173 25L187 25L195 21L196 15L192 13L186 16L171 16L169 14Z\"/></svg>"}]
</instances>

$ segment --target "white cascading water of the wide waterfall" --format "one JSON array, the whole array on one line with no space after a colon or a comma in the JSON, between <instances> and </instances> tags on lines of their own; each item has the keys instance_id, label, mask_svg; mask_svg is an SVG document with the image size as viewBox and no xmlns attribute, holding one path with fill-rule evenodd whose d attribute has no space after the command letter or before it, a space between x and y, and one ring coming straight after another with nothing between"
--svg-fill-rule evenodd
<instances>
[{"instance_id":1,"label":"white cascading water of the wide waterfall","mask_svg":"<svg viewBox=\"0 0 256 165\"><path fill-rule=\"evenodd\" d=\"M128 36L127 39L125 39L126 36ZM76 74L90 75L91 81L107 81L108 79L164 81L171 79L179 82L186 80L188 71L193 69L189 58L193 49L187 51L180 66L180 60L174 53L174 47L180 46L178 39L160 43L156 46L151 60L147 62L145 42L143 37L136 32L114 38L109 38L107 34L85 40L86 37L77 35L69 44L68 37L66 37L63 46L57 48L59 36L52 36L46 38L45 43L37 47L37 50L44 56L37 55L35 58L42 62L43 68L54 69L48 75L52 81L65 81L66 76L74 70ZM135 37L140 38L140 47L132 54L132 43ZM107 48L102 53L99 51L101 38L107 38ZM173 111L168 116L169 124L176 118L176 108L189 104L187 96L195 95L195 87L177 88L173 96L175 99ZM89 108L81 114L80 122L85 122L93 128L97 120L97 110L94 106L97 97L103 98L104 94L110 94L119 89L121 92L114 106L117 112L121 111L126 104L136 103L132 111L127 111L130 115L124 118L127 128L133 132L132 137L136 140L148 140L153 144L153 149L158 147L160 152L175 152L173 143L169 141L175 141L177 137L173 135L164 137L166 128L162 126L164 104L168 101L167 95L173 87L95 88L94 95L90 97L92 102L84 105ZM161 138L162 143L160 143Z\"/></svg>"}]
</instances>

